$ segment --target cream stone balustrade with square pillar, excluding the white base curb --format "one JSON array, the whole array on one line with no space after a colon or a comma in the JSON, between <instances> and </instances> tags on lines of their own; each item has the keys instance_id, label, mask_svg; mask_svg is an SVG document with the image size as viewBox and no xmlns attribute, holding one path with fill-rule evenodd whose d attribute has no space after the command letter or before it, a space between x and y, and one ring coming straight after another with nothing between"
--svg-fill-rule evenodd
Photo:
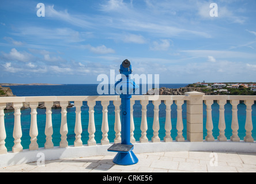
<instances>
[{"instance_id":1,"label":"cream stone balustrade with square pillar, excluding the white base curb","mask_svg":"<svg viewBox=\"0 0 256 184\"><path fill-rule=\"evenodd\" d=\"M29 150L38 150L39 145L37 144L37 106L39 102L45 102L46 106L46 128L45 135L46 140L44 144L45 149L54 148L54 143L52 142L52 105L54 101L59 101L61 105L61 128L59 132L61 133L61 141L59 143L59 147L66 148L68 147L67 142L67 105L69 101L74 101L74 105L76 106L76 124L74 128L74 133L76 134L76 140L74 141L74 147L82 147L83 143L81 140L82 134L82 122L81 122L81 106L82 102L86 101L89 107L89 122L88 122L88 134L89 140L86 146L92 147L96 145L95 140L95 105L96 101L100 101L103 106L102 114L102 124L101 124L101 132L102 139L100 144L107 145L110 144L110 140L108 139L108 105L110 105L110 101L113 101L115 106L115 139L114 143L121 143L121 118L120 118L120 106L121 99L119 96L99 96L99 97L1 97L0 98L0 155L7 154L7 148L5 147L5 139L6 139L6 130L5 130L5 112L4 109L6 107L6 103L13 103L14 108L14 128L13 128L13 138L14 145L12 147L12 152L22 152L23 147L21 144L21 108L22 102L29 102L29 107L31 108L31 127L29 131L29 136L31 136L31 144L29 145ZM225 112L224 106L227 104L227 101L230 101L232 105L232 136L230 137L231 141L240 141L238 136L238 104L240 101L244 101L246 105L246 136L244 137L244 142L253 143L254 139L252 137L253 130L253 120L252 120L252 109L251 106L256 101L256 96L210 96L204 95L203 93L190 92L186 93L186 95L172 95L172 96L149 96L149 95L140 95L133 96L131 99L131 129L130 129L130 137L131 143L135 143L134 138L134 120L133 120L133 105L135 101L140 101L142 106L141 108L141 136L140 143L148 143L147 131L149 128L153 129L153 137L152 143L159 143L159 130L160 130L160 122L159 122L159 105L161 102L164 102L166 109L166 117L165 117L165 137L164 142L172 142L171 131L172 131L172 118L171 118L171 105L176 104L177 106L177 121L176 121L176 130L177 136L175 137L176 142L185 141L185 137L183 136L183 118L182 118L182 105L187 104L187 141L197 142L197 141L216 141L213 136L213 120L212 120L212 105L214 101L217 101L219 104L219 136L217 137L218 141L227 141L229 137L225 137ZM147 122L147 105L152 101L154 106L153 112L153 126L148 127ZM203 103L206 105L206 130L207 135L203 137Z\"/></svg>"}]
</instances>

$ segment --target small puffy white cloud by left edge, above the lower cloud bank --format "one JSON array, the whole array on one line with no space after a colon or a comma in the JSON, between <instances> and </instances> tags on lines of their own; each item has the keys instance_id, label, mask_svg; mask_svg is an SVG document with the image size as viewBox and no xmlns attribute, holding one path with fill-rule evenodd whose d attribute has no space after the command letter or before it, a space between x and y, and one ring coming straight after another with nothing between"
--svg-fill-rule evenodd
<instances>
[{"instance_id":1,"label":"small puffy white cloud by left edge, above the lower cloud bank","mask_svg":"<svg viewBox=\"0 0 256 184\"><path fill-rule=\"evenodd\" d=\"M6 60L14 60L18 62L29 62L33 59L33 56L28 52L18 52L15 48L13 48L10 53L3 53L3 56Z\"/></svg>"}]
</instances>

